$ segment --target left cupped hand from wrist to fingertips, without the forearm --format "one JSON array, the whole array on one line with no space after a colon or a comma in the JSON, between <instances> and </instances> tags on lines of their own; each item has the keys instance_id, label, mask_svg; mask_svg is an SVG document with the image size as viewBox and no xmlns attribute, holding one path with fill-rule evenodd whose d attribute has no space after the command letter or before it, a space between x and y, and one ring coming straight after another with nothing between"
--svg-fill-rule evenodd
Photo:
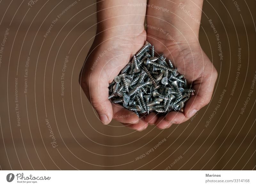
<instances>
[{"instance_id":1,"label":"left cupped hand from wrist to fingertips, without the forearm","mask_svg":"<svg viewBox=\"0 0 256 186\"><path fill-rule=\"evenodd\" d=\"M148 126L145 118L139 119L134 112L111 103L108 84L144 45L146 31L142 25L139 34L126 35L120 30L115 31L115 35L111 33L96 35L80 73L80 84L104 124L113 118L128 128L141 131Z\"/></svg>"}]
</instances>

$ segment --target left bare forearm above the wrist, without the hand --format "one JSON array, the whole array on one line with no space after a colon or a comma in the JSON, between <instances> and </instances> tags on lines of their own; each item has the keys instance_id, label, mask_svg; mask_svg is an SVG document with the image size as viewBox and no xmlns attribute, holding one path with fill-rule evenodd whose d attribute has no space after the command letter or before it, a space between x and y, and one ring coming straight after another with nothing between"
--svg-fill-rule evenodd
<instances>
[{"instance_id":1,"label":"left bare forearm above the wrist, without the hand","mask_svg":"<svg viewBox=\"0 0 256 186\"><path fill-rule=\"evenodd\" d=\"M97 32L140 34L144 29L146 3L146 0L97 0Z\"/></svg>"}]
</instances>

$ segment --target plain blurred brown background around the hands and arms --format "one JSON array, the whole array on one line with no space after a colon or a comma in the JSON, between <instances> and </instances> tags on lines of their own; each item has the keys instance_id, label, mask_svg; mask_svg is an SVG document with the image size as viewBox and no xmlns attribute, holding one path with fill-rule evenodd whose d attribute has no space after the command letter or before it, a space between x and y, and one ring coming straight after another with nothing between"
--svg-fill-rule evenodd
<instances>
[{"instance_id":1,"label":"plain blurred brown background around the hands and arms","mask_svg":"<svg viewBox=\"0 0 256 186\"><path fill-rule=\"evenodd\" d=\"M240 114L255 74L255 1L204 1L200 43L218 70L212 101L191 121L166 130L149 126L135 132L116 121L103 126L78 84L78 74L95 34L95 1L28 0L0 3L0 42L10 28L0 67L0 168L6 169L256 169L255 95L253 90L244 114ZM91 5L91 6L90 6ZM210 27L212 19L220 35L224 59ZM234 95L241 48L242 66ZM30 52L31 49L31 52ZM70 52L69 52L70 50ZM28 93L24 94L27 57ZM61 70L69 56L61 96ZM19 65L18 65L19 64ZM16 74L18 68L18 74ZM20 126L15 111L15 78L18 78ZM227 90L208 127L206 121ZM56 137L52 148L48 119ZM155 151L145 154L161 141ZM144 156L144 155L143 155Z\"/></svg>"}]
</instances>

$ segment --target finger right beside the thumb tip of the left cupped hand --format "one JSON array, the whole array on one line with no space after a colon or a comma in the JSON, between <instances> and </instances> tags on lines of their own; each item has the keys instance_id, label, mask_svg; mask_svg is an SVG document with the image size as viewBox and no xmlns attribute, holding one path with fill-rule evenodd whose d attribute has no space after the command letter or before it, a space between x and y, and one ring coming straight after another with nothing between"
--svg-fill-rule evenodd
<instances>
[{"instance_id":1,"label":"finger right beside the thumb tip of the left cupped hand","mask_svg":"<svg viewBox=\"0 0 256 186\"><path fill-rule=\"evenodd\" d=\"M113 119L121 123L138 123L139 117L136 113L125 109L122 105L112 104Z\"/></svg>"}]
</instances>

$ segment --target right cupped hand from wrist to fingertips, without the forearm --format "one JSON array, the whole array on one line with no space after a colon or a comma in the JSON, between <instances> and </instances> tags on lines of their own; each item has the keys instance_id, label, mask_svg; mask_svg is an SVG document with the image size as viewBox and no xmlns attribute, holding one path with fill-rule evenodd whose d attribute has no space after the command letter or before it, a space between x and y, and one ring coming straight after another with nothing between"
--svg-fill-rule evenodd
<instances>
[{"instance_id":1,"label":"right cupped hand from wrist to fingertips, without the forearm","mask_svg":"<svg viewBox=\"0 0 256 186\"><path fill-rule=\"evenodd\" d=\"M209 103L217 72L198 42L173 44L170 40L152 35L150 30L147 36L147 40L158 49L156 52L164 53L164 56L171 59L178 72L184 74L188 83L192 83L193 89L196 90L195 95L186 104L184 113L170 112L165 117L158 117L155 113L151 113L146 117L149 124L156 124L158 128L168 128L172 123L188 120L191 117L190 111L199 110ZM204 96L205 94L207 96Z\"/></svg>"}]
</instances>

